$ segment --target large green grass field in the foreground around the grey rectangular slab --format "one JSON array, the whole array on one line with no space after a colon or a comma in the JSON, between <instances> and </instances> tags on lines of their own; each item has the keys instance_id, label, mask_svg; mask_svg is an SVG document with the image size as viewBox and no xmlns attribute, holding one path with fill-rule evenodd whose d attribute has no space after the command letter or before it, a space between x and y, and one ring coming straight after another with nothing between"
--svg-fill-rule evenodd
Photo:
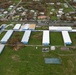
<instances>
[{"instance_id":1,"label":"large green grass field in the foreground around the grey rectangular slab","mask_svg":"<svg viewBox=\"0 0 76 75\"><path fill-rule=\"evenodd\" d=\"M61 65L45 64L44 58L61 59ZM42 47L22 47L18 51L5 47L0 55L1 75L76 75L76 51L56 49L48 53Z\"/></svg>"}]
</instances>

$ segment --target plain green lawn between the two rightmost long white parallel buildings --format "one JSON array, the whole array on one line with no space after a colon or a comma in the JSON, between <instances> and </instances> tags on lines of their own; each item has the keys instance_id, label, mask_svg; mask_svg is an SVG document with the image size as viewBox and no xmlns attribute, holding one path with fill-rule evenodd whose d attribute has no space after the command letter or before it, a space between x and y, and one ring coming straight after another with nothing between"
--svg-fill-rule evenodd
<instances>
[{"instance_id":1,"label":"plain green lawn between the two rightmost long white parallel buildings","mask_svg":"<svg viewBox=\"0 0 76 75\"><path fill-rule=\"evenodd\" d=\"M60 32L50 32L50 45L63 45L63 43Z\"/></svg>"}]
</instances>

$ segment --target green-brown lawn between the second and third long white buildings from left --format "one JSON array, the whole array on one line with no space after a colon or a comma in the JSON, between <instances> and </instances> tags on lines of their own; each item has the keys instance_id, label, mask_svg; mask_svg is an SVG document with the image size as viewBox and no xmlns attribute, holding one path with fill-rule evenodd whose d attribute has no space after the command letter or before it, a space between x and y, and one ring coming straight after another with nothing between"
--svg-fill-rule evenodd
<instances>
[{"instance_id":1,"label":"green-brown lawn between the second and third long white buildings from left","mask_svg":"<svg viewBox=\"0 0 76 75\"><path fill-rule=\"evenodd\" d=\"M32 32L29 40L30 45L42 45L42 32Z\"/></svg>"}]
</instances>

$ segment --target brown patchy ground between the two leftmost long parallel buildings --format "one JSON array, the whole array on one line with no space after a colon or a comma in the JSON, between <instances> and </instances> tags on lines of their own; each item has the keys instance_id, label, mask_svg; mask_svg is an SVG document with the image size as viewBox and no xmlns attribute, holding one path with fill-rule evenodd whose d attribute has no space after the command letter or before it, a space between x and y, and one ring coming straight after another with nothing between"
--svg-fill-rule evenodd
<instances>
[{"instance_id":1,"label":"brown patchy ground between the two leftmost long parallel buildings","mask_svg":"<svg viewBox=\"0 0 76 75\"><path fill-rule=\"evenodd\" d=\"M21 48L19 47L19 45L21 45L23 33L24 32L14 32L7 44L13 47L14 50L18 50L19 48Z\"/></svg>"}]
</instances>

